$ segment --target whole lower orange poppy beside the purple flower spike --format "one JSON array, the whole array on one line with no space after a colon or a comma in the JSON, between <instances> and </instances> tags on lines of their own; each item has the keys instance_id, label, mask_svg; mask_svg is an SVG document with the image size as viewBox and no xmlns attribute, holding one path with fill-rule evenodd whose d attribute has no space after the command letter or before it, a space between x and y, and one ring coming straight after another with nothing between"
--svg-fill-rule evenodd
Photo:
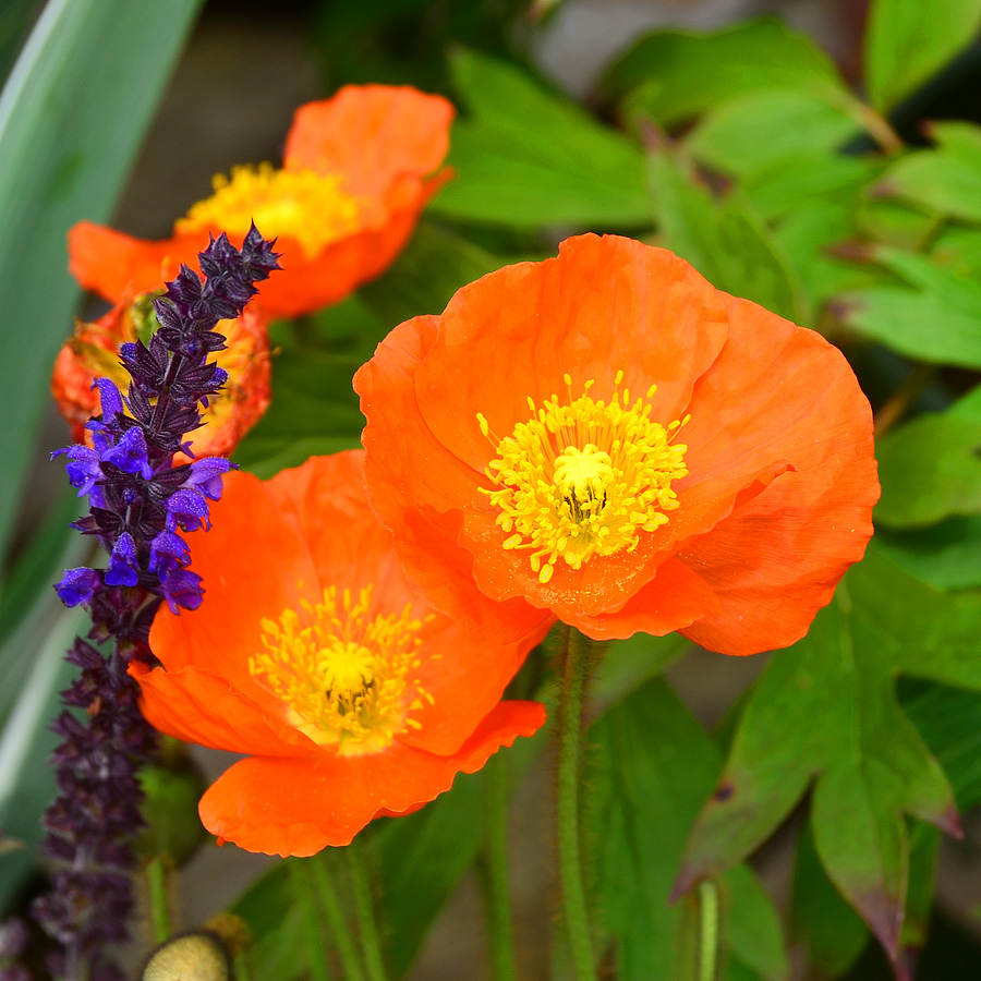
<instances>
[{"instance_id":1,"label":"whole lower orange poppy beside the purple flower spike","mask_svg":"<svg viewBox=\"0 0 981 981\"><path fill-rule=\"evenodd\" d=\"M263 483L225 479L194 548L205 602L161 609L133 662L147 719L250 754L201 818L250 851L312 855L372 818L415 809L544 722L500 702L544 631L498 644L431 610L364 497L363 451L313 458Z\"/></svg>"}]
</instances>

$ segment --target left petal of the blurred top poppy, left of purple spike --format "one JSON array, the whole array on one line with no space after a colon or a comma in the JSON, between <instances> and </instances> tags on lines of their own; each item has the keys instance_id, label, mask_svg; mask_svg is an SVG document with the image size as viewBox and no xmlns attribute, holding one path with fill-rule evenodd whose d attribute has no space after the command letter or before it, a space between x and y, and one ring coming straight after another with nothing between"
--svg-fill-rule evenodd
<instances>
[{"instance_id":1,"label":"left petal of the blurred top poppy, left of purple spike","mask_svg":"<svg viewBox=\"0 0 981 981\"><path fill-rule=\"evenodd\" d=\"M159 289L181 263L197 268L197 252L207 244L207 234L147 242L80 221L69 231L69 269L85 289L116 303L126 293Z\"/></svg>"}]
</instances>

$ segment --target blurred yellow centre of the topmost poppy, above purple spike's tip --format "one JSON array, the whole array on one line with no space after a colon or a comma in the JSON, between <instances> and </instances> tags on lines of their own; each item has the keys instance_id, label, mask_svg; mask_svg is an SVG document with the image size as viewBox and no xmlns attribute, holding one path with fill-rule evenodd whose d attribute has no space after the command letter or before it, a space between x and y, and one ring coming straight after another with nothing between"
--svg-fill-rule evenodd
<instances>
[{"instance_id":1,"label":"blurred yellow centre of the topmost poppy, above purple spike's tip","mask_svg":"<svg viewBox=\"0 0 981 981\"><path fill-rule=\"evenodd\" d=\"M252 221L266 235L284 235L315 256L325 245L356 231L358 199L340 190L340 178L312 170L276 170L270 164L233 167L218 174L215 193L177 222L179 232L219 228L244 235Z\"/></svg>"}]
</instances>

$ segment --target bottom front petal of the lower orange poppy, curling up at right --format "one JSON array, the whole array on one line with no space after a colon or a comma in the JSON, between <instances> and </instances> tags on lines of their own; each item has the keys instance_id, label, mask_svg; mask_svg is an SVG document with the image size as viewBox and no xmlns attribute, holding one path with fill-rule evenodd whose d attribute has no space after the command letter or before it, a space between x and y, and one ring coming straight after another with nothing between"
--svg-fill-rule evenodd
<instances>
[{"instance_id":1,"label":"bottom front petal of the lower orange poppy, curling up at right","mask_svg":"<svg viewBox=\"0 0 981 981\"><path fill-rule=\"evenodd\" d=\"M458 773L545 720L535 702L501 702L449 756L393 743L365 756L242 760L208 789L199 813L214 835L249 851L313 855L347 845L379 811L400 813L448 790Z\"/></svg>"}]
</instances>

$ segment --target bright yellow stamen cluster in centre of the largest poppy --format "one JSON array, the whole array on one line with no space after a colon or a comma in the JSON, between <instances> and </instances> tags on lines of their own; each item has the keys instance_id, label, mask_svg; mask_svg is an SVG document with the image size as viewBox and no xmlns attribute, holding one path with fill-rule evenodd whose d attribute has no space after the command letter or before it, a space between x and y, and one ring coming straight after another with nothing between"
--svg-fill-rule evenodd
<instances>
[{"instance_id":1,"label":"bright yellow stamen cluster in centre of the largest poppy","mask_svg":"<svg viewBox=\"0 0 981 981\"><path fill-rule=\"evenodd\" d=\"M631 404L629 390L619 390L622 378L618 372L606 403L589 395L593 382L573 400L566 375L569 404L553 396L537 408L529 398L531 419L504 439L492 437L477 413L497 453L486 469L495 488L481 489L500 508L497 523L509 535L504 547L531 549L542 583L559 557L579 569L594 555L632 552L641 532L659 528L668 520L664 512L678 507L671 481L688 473L688 447L671 439L688 419L652 422L656 386Z\"/></svg>"}]
</instances>

